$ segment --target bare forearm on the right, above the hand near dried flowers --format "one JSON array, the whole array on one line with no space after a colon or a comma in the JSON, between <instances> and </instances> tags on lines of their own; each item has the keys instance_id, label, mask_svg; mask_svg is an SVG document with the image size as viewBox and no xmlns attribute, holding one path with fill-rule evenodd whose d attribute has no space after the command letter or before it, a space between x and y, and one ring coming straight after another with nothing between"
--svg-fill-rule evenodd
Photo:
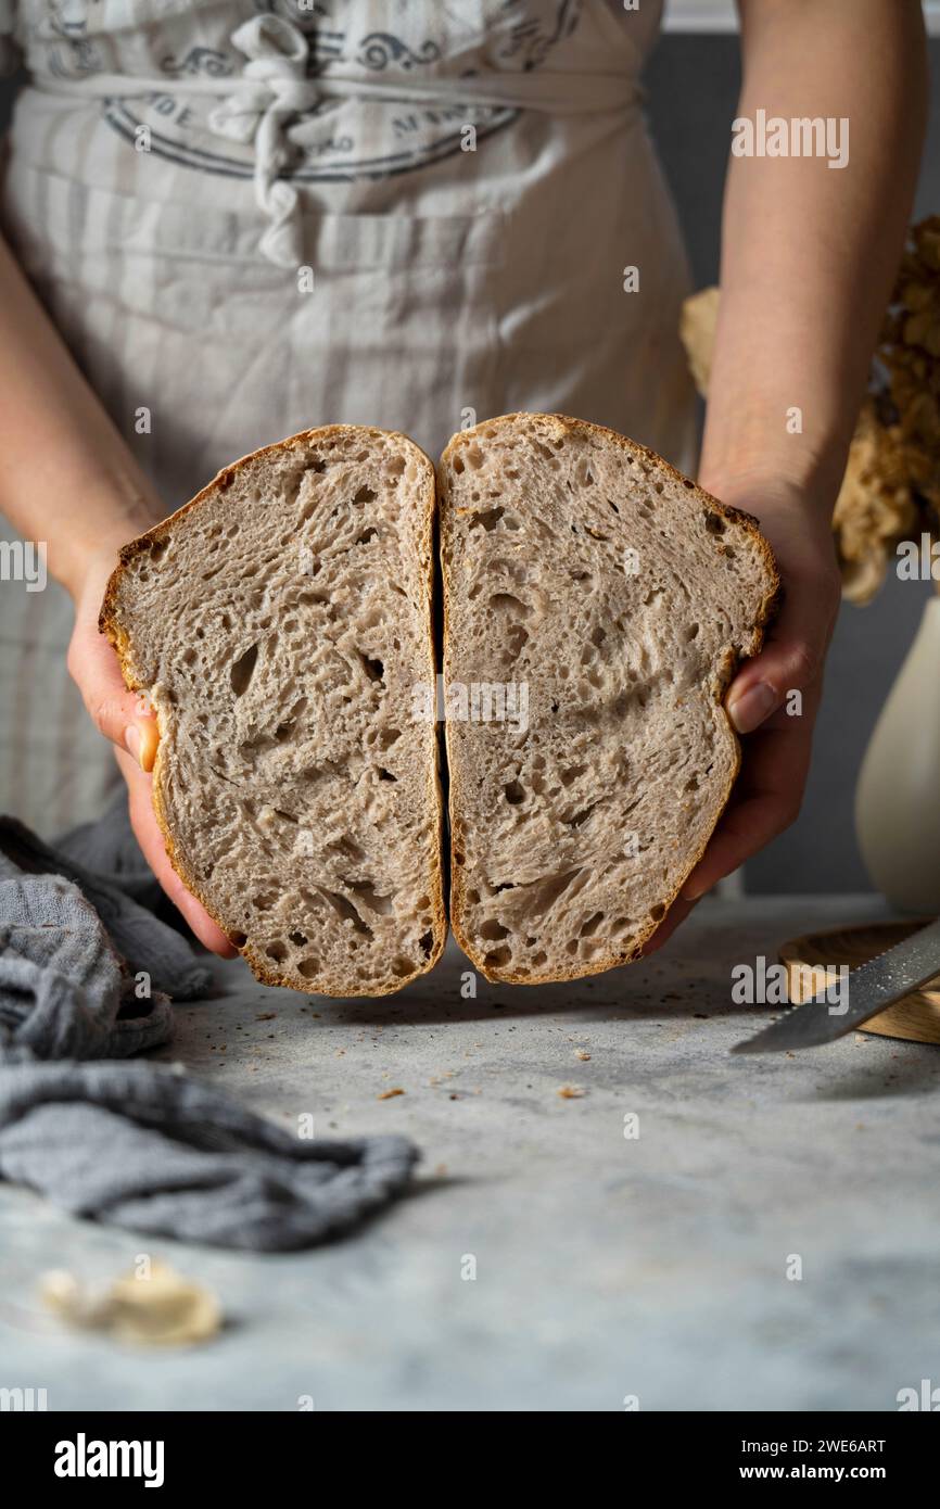
<instances>
[{"instance_id":1,"label":"bare forearm on the right, above the hand near dried flowers","mask_svg":"<svg viewBox=\"0 0 940 1509\"><path fill-rule=\"evenodd\" d=\"M926 116L917 0L741 0L738 116L848 119L848 163L730 157L703 486L831 510Z\"/></svg>"}]
</instances>

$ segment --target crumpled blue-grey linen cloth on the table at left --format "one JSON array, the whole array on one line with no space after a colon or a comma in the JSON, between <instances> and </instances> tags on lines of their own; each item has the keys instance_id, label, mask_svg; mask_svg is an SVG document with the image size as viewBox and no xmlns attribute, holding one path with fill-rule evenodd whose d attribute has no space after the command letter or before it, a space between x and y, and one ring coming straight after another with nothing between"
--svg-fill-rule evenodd
<instances>
[{"instance_id":1,"label":"crumpled blue-grey linen cloth on the table at left","mask_svg":"<svg viewBox=\"0 0 940 1509\"><path fill-rule=\"evenodd\" d=\"M160 898L125 798L56 848L0 818L0 1177L74 1215L250 1251L355 1225L407 1185L406 1138L305 1142L178 1068L125 1062L170 1038L169 997L211 988L143 904Z\"/></svg>"}]
</instances>

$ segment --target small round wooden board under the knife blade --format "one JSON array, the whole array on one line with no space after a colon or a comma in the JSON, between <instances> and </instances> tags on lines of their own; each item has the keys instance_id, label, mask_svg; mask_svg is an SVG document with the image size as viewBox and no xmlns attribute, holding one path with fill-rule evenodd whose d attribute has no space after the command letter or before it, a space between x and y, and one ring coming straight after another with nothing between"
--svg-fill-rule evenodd
<instances>
[{"instance_id":1,"label":"small round wooden board under the knife blade","mask_svg":"<svg viewBox=\"0 0 940 1509\"><path fill-rule=\"evenodd\" d=\"M786 966L789 999L795 1003L809 1000L824 990L837 975L827 973L848 964L857 969L877 954L884 954L895 943L932 922L920 917L913 922L874 922L862 928L834 928L831 933L807 933L791 939L780 949L780 963ZM812 979L809 970L813 972ZM878 1013L859 1032L877 1032L880 1037L901 1037L911 1043L940 1043L940 975L929 985L914 990L896 1000L887 1011Z\"/></svg>"}]
</instances>

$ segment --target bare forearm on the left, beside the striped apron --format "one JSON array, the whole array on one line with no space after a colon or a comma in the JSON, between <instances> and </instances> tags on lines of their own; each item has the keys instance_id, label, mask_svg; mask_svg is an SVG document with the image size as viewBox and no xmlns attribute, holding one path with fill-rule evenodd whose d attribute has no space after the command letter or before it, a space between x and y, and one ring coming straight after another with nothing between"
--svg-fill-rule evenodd
<instances>
[{"instance_id":1,"label":"bare forearm on the left, beside the striped apron","mask_svg":"<svg viewBox=\"0 0 940 1509\"><path fill-rule=\"evenodd\" d=\"M48 570L72 593L160 509L9 247L0 240L0 512L47 542Z\"/></svg>"}]
</instances>

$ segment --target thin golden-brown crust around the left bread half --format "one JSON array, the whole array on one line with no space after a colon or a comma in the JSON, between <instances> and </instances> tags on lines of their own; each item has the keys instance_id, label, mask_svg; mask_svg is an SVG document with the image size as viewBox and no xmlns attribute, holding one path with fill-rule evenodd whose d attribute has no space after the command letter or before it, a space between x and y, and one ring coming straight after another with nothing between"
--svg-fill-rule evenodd
<instances>
[{"instance_id":1,"label":"thin golden-brown crust around the left bread half","mask_svg":"<svg viewBox=\"0 0 940 1509\"><path fill-rule=\"evenodd\" d=\"M166 519L161 519L152 528L146 530L143 534L139 534L136 539L128 540L127 545L121 546L118 552L118 566L112 572L107 587L104 590L101 613L98 616L98 629L110 640L110 643L115 647L118 661L121 664L121 675L124 676L124 682L128 691L146 690L134 678L130 638L119 619L118 589L121 584L121 578L127 570L128 563L134 560L136 555L149 549L152 545L163 542L166 536L170 533L170 528L175 527L180 522L180 519L184 518L184 515L190 513L193 509L198 509L199 504L202 504L207 498L216 496L219 490L228 489L237 472L244 469L249 463L258 462L266 456L272 456L275 453L300 450L308 445L323 444L323 441L327 441L335 436L352 436L352 435L373 438L373 439L379 436L386 439L394 439L403 444L406 448L415 451L429 465L429 487L425 493L427 507L424 512L422 531L421 531L421 543L422 543L421 558L425 566L424 617L427 629L425 643L429 644L429 652L430 652L429 673L430 673L430 685L436 687L438 656L435 649L433 620L432 620L432 595L435 581L433 536L435 536L435 521L438 510L438 493L435 487L435 465L430 456L427 456L419 445L415 445L415 442L407 435L401 435L398 430L379 430L376 427L362 424L326 424L314 430L300 430L297 435L290 435L287 439L276 441L273 445L264 445L261 447L261 450L250 451L247 456L241 456L237 462L223 466L222 471L219 471L216 477L195 495L195 498L190 498L190 501L184 502L183 507L177 509L175 513L170 513ZM235 946L238 952L243 955L243 958L247 960L252 973L255 975L257 979L261 981L261 984L279 985L287 990L297 990L299 987L290 978L281 975L276 969L273 969L272 961L267 957L258 954L258 951L253 949L247 940L241 945L237 943L237 937L240 937L240 934L232 934L225 920L213 910L213 905L207 898L199 878L193 875L193 872L189 869L186 863L184 856L177 848L169 818L166 815L160 797L160 773L163 761L167 758L166 744L163 739L164 729L160 726L160 709L157 709L157 726L160 732L160 742L157 745L157 758L154 761L154 770L152 770L152 777L154 777L152 806L154 806L154 816L163 834L166 854L170 865L180 875L180 880L184 883L186 889L205 907L213 922L219 928L222 928L222 931L226 934L232 946ZM429 797L435 812L438 842L435 845L432 857L432 871L429 877L432 913L435 920L432 927L432 952L429 955L427 963L421 969L416 969L412 975L404 975L401 976L401 979L389 981L386 985L380 985L373 990L362 990L361 985L355 990L350 990L346 988L344 981L330 981L329 991L306 990L305 994L329 994L335 997L391 996L398 990L403 990L418 976L425 975L430 969L435 967L435 964L441 958L444 945L447 942L447 908L444 905L444 800L441 791L439 758L441 758L439 741L436 741L435 764L433 770L429 773Z\"/></svg>"}]
</instances>

